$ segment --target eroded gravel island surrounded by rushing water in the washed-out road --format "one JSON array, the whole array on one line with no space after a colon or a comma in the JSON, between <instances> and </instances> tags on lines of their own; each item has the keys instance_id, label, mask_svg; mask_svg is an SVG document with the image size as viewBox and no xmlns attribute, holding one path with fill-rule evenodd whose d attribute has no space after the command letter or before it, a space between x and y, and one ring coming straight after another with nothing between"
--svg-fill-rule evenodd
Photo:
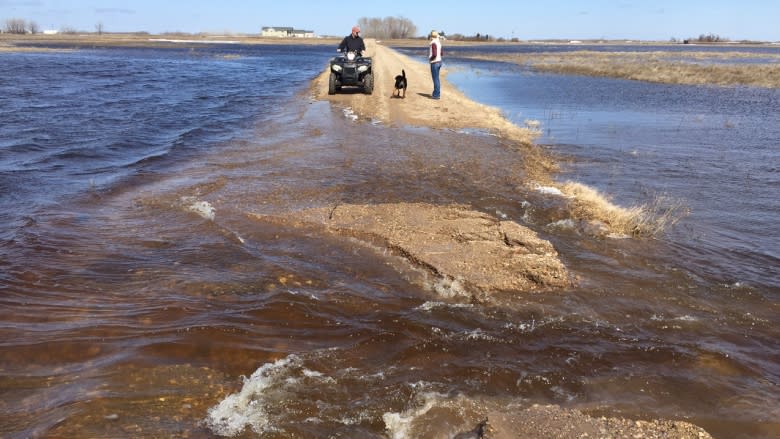
<instances>
[{"instance_id":1,"label":"eroded gravel island surrounded by rushing water in the washed-out road","mask_svg":"<svg viewBox=\"0 0 780 439\"><path fill-rule=\"evenodd\" d=\"M337 236L392 250L430 272L448 292L445 296L569 285L552 244L514 221L501 221L468 206L339 204L296 212L288 219L281 220L288 226L321 225Z\"/></svg>"}]
</instances>

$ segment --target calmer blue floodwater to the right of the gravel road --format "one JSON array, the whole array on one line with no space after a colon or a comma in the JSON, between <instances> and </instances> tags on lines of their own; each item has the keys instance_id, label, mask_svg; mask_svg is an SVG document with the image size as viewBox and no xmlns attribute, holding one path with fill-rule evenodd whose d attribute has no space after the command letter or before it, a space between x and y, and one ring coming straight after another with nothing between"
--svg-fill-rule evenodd
<instances>
[{"instance_id":1,"label":"calmer blue floodwater to the right of the gravel road","mask_svg":"<svg viewBox=\"0 0 780 439\"><path fill-rule=\"evenodd\" d=\"M780 284L780 92L465 65L450 79L517 124L540 121L540 141L575 158L566 178L623 205L684 200L692 220L669 238L697 272Z\"/></svg>"}]
</instances>

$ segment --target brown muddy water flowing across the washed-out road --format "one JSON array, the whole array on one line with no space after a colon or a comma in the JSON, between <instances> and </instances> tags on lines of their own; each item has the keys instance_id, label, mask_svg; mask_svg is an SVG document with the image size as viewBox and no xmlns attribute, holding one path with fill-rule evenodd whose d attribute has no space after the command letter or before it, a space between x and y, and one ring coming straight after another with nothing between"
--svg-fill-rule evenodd
<instances>
[{"instance_id":1,"label":"brown muddy water flowing across the washed-out road","mask_svg":"<svg viewBox=\"0 0 780 439\"><path fill-rule=\"evenodd\" d=\"M281 101L219 148L9 222L0 435L450 437L534 403L780 435L777 286L689 270L666 235L550 226L560 199L492 136ZM573 285L474 300L386 249L247 215L386 202L531 227Z\"/></svg>"}]
</instances>

